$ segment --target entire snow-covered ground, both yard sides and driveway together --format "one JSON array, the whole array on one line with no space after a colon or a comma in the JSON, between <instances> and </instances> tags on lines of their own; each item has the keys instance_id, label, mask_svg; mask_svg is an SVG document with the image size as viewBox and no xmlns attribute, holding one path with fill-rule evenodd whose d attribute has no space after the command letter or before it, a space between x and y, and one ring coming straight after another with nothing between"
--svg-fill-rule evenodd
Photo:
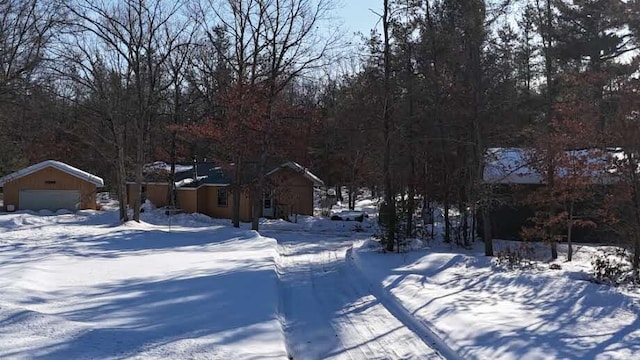
<instances>
[{"instance_id":1,"label":"entire snow-covered ground, both yard sides and driveway together","mask_svg":"<svg viewBox=\"0 0 640 360\"><path fill-rule=\"evenodd\" d=\"M640 291L589 281L596 247L506 271L479 242L390 254L375 219L296 220L0 213L0 358L640 356Z\"/></svg>"}]
</instances>

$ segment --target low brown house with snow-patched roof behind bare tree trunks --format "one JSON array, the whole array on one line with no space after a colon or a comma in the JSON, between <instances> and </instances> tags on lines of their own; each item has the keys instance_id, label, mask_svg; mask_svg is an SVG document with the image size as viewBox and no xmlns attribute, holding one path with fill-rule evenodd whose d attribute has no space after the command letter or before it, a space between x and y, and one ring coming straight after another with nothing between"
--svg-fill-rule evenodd
<instances>
[{"instance_id":1,"label":"low brown house with snow-patched roof behind bare tree trunks","mask_svg":"<svg viewBox=\"0 0 640 360\"><path fill-rule=\"evenodd\" d=\"M169 205L171 166L163 162L145 167L142 197L156 207ZM313 189L324 183L301 165L289 161L265 174L266 191L262 198L261 216L283 217L289 214L313 215ZM177 164L175 174L176 206L184 212L199 212L215 218L232 217L233 196L231 170L212 162ZM244 183L255 181L244 175ZM127 183L129 206L133 205L135 183ZM245 186L240 194L240 220L252 218L251 194Z\"/></svg>"}]
</instances>

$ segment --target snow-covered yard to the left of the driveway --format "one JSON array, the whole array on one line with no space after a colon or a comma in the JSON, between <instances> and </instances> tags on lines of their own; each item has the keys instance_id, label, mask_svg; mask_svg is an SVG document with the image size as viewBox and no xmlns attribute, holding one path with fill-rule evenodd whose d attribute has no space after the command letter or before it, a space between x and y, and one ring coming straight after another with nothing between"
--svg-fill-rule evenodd
<instances>
[{"instance_id":1,"label":"snow-covered yard to the left of the driveway","mask_svg":"<svg viewBox=\"0 0 640 360\"><path fill-rule=\"evenodd\" d=\"M0 358L286 358L275 240L145 220L0 214Z\"/></svg>"}]
</instances>

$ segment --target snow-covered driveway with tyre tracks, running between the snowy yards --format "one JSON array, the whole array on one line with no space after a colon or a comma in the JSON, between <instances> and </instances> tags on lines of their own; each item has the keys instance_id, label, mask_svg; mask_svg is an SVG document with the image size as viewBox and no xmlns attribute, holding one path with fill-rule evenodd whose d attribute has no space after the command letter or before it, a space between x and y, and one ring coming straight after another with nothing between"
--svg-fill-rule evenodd
<instances>
[{"instance_id":1,"label":"snow-covered driveway with tyre tracks, running between the snowy yards","mask_svg":"<svg viewBox=\"0 0 640 360\"><path fill-rule=\"evenodd\" d=\"M345 261L352 238L263 234L279 243L281 312L293 359L440 358Z\"/></svg>"}]
</instances>

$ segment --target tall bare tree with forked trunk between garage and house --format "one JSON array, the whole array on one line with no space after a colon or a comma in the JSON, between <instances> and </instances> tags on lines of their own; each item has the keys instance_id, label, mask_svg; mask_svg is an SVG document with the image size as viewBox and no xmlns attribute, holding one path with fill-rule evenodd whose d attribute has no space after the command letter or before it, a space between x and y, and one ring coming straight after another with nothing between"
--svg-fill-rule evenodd
<instances>
[{"instance_id":1,"label":"tall bare tree with forked trunk between garage and house","mask_svg":"<svg viewBox=\"0 0 640 360\"><path fill-rule=\"evenodd\" d=\"M161 94L172 85L164 76L169 58L176 49L186 46L183 34L190 29L188 20L180 14L181 5L165 1L77 0L67 9L74 16L77 30L66 48L68 54L63 54L79 69L73 79L86 89L96 90L97 75L104 70L126 90L129 111L119 111L122 118L117 120L108 112L102 116L113 127L110 143L118 154L115 173L123 220L127 219L122 209L127 200L125 150L128 143L133 144L136 186L131 195L134 220L139 221L149 131L158 117Z\"/></svg>"}]
</instances>

